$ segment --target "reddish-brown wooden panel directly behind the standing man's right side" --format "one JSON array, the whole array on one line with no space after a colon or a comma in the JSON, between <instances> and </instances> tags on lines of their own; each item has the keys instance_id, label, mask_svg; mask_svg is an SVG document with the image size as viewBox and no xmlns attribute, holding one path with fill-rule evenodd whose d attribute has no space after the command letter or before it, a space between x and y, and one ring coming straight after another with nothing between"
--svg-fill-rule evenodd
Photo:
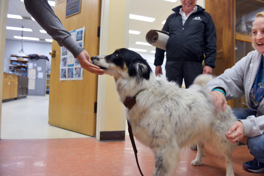
<instances>
[{"instance_id":1,"label":"reddish-brown wooden panel directly behind the standing man's right side","mask_svg":"<svg viewBox=\"0 0 264 176\"><path fill-rule=\"evenodd\" d=\"M216 28L217 54L213 74L218 76L235 64L235 1L205 0ZM228 104L233 107L234 100Z\"/></svg>"}]
</instances>

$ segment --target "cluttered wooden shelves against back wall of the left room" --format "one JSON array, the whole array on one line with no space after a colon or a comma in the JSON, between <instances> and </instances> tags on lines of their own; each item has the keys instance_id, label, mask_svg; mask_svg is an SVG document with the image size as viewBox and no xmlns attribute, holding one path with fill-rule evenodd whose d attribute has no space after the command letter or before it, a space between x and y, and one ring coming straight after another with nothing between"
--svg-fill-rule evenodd
<instances>
[{"instance_id":1,"label":"cluttered wooden shelves against back wall of the left room","mask_svg":"<svg viewBox=\"0 0 264 176\"><path fill-rule=\"evenodd\" d=\"M11 55L10 56L10 68L14 72L20 72L20 74L26 74L27 73L27 56L17 56L17 55Z\"/></svg>"}]
</instances>

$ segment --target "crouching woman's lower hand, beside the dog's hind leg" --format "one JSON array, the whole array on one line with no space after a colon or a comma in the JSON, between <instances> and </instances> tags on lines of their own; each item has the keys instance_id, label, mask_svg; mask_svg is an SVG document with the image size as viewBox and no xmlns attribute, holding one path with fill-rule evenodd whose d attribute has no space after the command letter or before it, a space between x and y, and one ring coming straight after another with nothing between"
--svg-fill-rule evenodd
<instances>
[{"instance_id":1,"label":"crouching woman's lower hand, beside the dog's hind leg","mask_svg":"<svg viewBox=\"0 0 264 176\"><path fill-rule=\"evenodd\" d=\"M234 132L235 131L235 132ZM232 134L234 132L234 134ZM237 141L243 139L244 125L241 121L236 121L233 126L225 133L225 137L228 141L235 144Z\"/></svg>"}]
</instances>

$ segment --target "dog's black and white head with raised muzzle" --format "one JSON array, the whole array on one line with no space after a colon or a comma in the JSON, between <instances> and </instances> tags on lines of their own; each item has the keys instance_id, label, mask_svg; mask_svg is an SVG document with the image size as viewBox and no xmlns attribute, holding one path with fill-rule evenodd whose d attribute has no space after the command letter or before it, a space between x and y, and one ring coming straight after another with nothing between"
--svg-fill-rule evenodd
<instances>
[{"instance_id":1,"label":"dog's black and white head with raised muzzle","mask_svg":"<svg viewBox=\"0 0 264 176\"><path fill-rule=\"evenodd\" d=\"M105 74L116 78L137 77L149 79L152 72L149 64L138 53L121 48L113 54L91 57L92 63L104 70Z\"/></svg>"}]
</instances>

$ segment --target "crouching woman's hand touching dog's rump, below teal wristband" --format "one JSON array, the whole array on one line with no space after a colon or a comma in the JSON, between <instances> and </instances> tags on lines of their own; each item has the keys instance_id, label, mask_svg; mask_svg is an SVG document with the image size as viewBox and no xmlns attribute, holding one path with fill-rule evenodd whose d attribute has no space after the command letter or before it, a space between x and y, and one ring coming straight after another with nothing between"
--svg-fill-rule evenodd
<instances>
[{"instance_id":1,"label":"crouching woman's hand touching dog's rump, below teal wristband","mask_svg":"<svg viewBox=\"0 0 264 176\"><path fill-rule=\"evenodd\" d=\"M225 111L225 108L227 108L227 100L224 94L220 91L211 91L210 94L213 96L216 111L218 112L221 108L222 111Z\"/></svg>"}]
</instances>

